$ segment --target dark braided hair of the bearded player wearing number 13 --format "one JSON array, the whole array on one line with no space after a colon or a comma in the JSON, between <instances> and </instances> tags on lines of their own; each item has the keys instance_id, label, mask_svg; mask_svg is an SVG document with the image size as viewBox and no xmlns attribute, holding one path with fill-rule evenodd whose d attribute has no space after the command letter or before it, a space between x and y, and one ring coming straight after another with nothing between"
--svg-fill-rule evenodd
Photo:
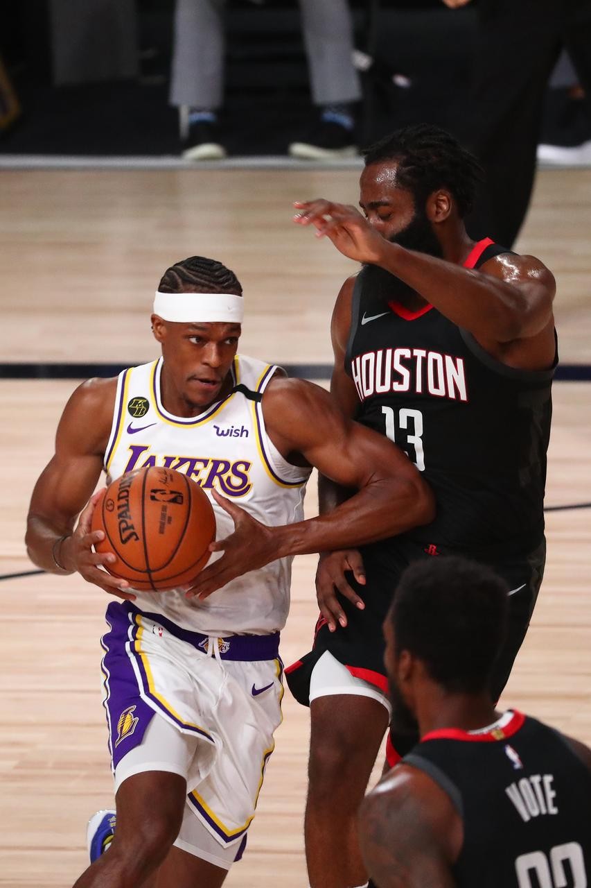
<instances>
[{"instance_id":1,"label":"dark braided hair of the bearded player wearing number 13","mask_svg":"<svg viewBox=\"0 0 591 888\"><path fill-rule=\"evenodd\" d=\"M461 218L472 209L484 170L451 133L430 123L396 130L363 152L366 166L398 163L398 182L424 202L437 188L453 194Z\"/></svg>"}]
</instances>

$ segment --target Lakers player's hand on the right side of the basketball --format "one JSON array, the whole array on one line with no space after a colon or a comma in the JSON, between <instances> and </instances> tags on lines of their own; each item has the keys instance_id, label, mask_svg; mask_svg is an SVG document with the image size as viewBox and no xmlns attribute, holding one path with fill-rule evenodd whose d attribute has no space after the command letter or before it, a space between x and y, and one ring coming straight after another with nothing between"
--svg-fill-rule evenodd
<instances>
[{"instance_id":1,"label":"Lakers player's hand on the right side of the basketball","mask_svg":"<svg viewBox=\"0 0 591 888\"><path fill-rule=\"evenodd\" d=\"M278 558L272 527L257 521L248 511L244 511L225 496L220 496L217 490L212 490L212 495L232 518L234 532L226 536L225 540L210 543L209 551L223 551L224 554L208 567L204 567L189 588L185 588L187 599L207 599L212 592L221 589L237 576L248 574L248 571L256 570L257 567L264 567Z\"/></svg>"}]
</instances>

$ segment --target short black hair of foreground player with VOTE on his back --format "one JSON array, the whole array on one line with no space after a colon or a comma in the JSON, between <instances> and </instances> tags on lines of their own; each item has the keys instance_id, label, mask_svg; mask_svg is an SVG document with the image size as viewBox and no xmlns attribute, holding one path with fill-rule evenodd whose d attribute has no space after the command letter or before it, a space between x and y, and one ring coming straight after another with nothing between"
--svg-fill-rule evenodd
<instances>
[{"instance_id":1,"label":"short black hair of foreground player with VOTE on his back","mask_svg":"<svg viewBox=\"0 0 591 888\"><path fill-rule=\"evenodd\" d=\"M461 558L407 567L389 618L397 655L421 660L452 693L485 689L507 630L508 587L493 571Z\"/></svg>"}]
</instances>

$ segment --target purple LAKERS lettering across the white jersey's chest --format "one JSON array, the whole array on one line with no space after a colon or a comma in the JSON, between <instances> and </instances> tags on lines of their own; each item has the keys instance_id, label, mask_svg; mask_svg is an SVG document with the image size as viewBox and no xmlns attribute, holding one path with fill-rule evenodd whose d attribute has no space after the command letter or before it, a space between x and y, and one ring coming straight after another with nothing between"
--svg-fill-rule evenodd
<instances>
[{"instance_id":1,"label":"purple LAKERS lettering across the white jersey's chest","mask_svg":"<svg viewBox=\"0 0 591 888\"><path fill-rule=\"evenodd\" d=\"M130 456L122 473L161 465L165 469L183 472L201 488L210 490L216 484L225 496L246 496L252 489L252 463L246 459L231 461L207 456L161 456L150 453L150 450L149 444L130 444Z\"/></svg>"}]
</instances>

